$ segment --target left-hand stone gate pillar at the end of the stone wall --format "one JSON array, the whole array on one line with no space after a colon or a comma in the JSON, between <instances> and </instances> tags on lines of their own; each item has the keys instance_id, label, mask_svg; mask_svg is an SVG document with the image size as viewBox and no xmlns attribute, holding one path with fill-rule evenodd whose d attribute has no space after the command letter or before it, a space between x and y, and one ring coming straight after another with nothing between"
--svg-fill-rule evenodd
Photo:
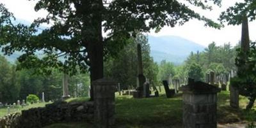
<instances>
[{"instance_id":1,"label":"left-hand stone gate pillar at the end of the stone wall","mask_svg":"<svg viewBox=\"0 0 256 128\"><path fill-rule=\"evenodd\" d=\"M92 82L94 90L94 122L97 128L111 128L115 124L115 87L112 80L102 78Z\"/></svg>"}]
</instances>

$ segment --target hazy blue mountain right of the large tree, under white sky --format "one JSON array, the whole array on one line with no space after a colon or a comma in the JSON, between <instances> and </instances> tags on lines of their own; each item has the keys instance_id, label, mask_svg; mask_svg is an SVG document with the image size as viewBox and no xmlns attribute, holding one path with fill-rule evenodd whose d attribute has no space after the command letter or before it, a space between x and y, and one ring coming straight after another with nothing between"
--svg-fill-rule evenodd
<instances>
[{"instance_id":1,"label":"hazy blue mountain right of the large tree, under white sky","mask_svg":"<svg viewBox=\"0 0 256 128\"><path fill-rule=\"evenodd\" d=\"M191 52L202 52L205 46L179 36L148 36L150 55L157 63L161 60L181 64Z\"/></svg>"}]
</instances>

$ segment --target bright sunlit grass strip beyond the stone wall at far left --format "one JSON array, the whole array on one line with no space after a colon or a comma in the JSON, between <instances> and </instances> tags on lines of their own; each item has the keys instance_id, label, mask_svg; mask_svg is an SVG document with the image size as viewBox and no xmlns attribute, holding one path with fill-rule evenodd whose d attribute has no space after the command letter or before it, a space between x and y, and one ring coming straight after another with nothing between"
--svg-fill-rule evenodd
<instances>
[{"instance_id":1,"label":"bright sunlit grass strip beyond the stone wall at far left","mask_svg":"<svg viewBox=\"0 0 256 128\"><path fill-rule=\"evenodd\" d=\"M15 106L14 108L10 108L10 113L16 113L16 112L20 112L21 110L28 110L29 108L38 108L38 107L44 107L45 104L49 104L49 103L36 103L36 104L30 104L29 106L24 106L23 108L17 107ZM0 108L0 118L4 117L4 115L7 115L7 108Z\"/></svg>"}]
</instances>

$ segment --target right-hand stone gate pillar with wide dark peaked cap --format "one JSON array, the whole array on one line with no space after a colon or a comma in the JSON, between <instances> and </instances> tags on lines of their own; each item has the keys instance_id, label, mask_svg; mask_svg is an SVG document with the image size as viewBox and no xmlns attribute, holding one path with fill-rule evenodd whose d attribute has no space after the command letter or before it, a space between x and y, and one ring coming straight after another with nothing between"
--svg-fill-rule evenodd
<instances>
[{"instance_id":1,"label":"right-hand stone gate pillar with wide dark peaked cap","mask_svg":"<svg viewBox=\"0 0 256 128\"><path fill-rule=\"evenodd\" d=\"M189 79L183 92L183 127L217 128L217 92L220 89L204 82Z\"/></svg>"}]
</instances>

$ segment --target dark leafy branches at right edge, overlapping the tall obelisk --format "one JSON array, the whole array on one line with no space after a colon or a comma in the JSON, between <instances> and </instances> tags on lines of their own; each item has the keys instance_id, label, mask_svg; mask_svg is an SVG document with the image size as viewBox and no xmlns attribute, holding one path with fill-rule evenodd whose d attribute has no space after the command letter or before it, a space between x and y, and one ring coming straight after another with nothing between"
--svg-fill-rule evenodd
<instances>
[{"instance_id":1,"label":"dark leafy branches at right edge, overlapping the tall obelisk","mask_svg":"<svg viewBox=\"0 0 256 128\"><path fill-rule=\"evenodd\" d=\"M237 49L236 66L240 70L237 76L231 79L230 84L239 89L239 94L248 97L250 103L246 107L252 108L256 99L256 47L255 42L251 43L250 50L243 52L241 48ZM244 55L246 55L244 57Z\"/></svg>"}]
</instances>

